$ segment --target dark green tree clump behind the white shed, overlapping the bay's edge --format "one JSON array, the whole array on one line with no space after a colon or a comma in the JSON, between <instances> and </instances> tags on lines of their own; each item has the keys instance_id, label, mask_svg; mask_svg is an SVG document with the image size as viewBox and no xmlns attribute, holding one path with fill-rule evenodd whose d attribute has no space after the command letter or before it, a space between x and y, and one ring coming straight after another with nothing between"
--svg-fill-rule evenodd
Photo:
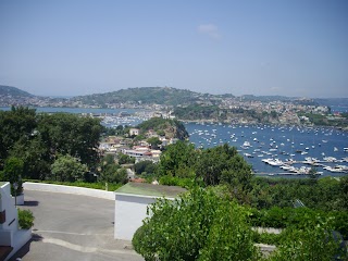
<instances>
[{"instance_id":1,"label":"dark green tree clump behind the white shed, overlapping the bay's edge","mask_svg":"<svg viewBox=\"0 0 348 261\"><path fill-rule=\"evenodd\" d=\"M252 189L251 166L235 147L227 144L202 150L196 150L192 144L184 141L170 145L161 154L157 173L167 185L175 185L178 181L175 177L191 178L204 186L225 184L240 200L245 200Z\"/></svg>"}]
</instances>

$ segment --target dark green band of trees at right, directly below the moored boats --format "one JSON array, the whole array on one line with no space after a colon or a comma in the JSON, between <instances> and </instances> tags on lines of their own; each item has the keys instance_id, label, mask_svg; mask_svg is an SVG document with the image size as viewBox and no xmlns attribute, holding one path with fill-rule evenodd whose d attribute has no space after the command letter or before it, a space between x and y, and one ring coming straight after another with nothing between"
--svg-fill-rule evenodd
<instances>
[{"instance_id":1,"label":"dark green band of trees at right, directly below the moored boats","mask_svg":"<svg viewBox=\"0 0 348 261\"><path fill-rule=\"evenodd\" d=\"M253 178L250 194L251 204L258 209L274 206L294 207L296 199L306 207L323 211L348 210L348 176L289 179Z\"/></svg>"}]
</instances>

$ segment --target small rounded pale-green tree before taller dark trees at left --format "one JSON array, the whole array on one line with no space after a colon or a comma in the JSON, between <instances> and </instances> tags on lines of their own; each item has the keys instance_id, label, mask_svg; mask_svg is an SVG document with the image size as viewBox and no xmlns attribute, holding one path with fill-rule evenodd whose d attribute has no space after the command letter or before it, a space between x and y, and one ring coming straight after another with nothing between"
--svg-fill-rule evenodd
<instances>
[{"instance_id":1,"label":"small rounded pale-green tree before taller dark trees at left","mask_svg":"<svg viewBox=\"0 0 348 261\"><path fill-rule=\"evenodd\" d=\"M51 179L58 182L83 181L87 171L87 165L78 162L76 158L70 154L59 156L51 165Z\"/></svg>"}]
</instances>

